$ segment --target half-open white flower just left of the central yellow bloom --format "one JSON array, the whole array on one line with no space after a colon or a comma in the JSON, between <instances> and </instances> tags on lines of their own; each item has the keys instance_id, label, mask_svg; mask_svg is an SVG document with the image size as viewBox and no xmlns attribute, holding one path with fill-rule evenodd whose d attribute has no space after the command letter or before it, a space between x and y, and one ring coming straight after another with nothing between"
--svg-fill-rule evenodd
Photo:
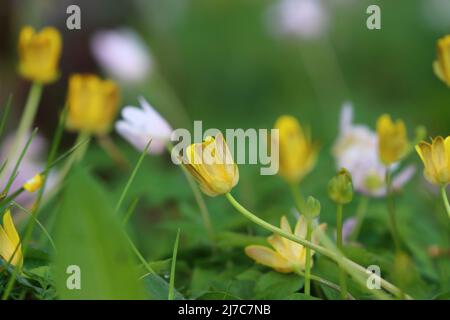
<instances>
[{"instance_id":1,"label":"half-open white flower just left of the central yellow bloom","mask_svg":"<svg viewBox=\"0 0 450 320\"><path fill-rule=\"evenodd\" d=\"M126 106L122 110L123 120L116 122L117 132L139 151L143 151L152 139L149 153L164 151L170 140L172 128L167 121L142 97L140 108Z\"/></svg>"}]
</instances>

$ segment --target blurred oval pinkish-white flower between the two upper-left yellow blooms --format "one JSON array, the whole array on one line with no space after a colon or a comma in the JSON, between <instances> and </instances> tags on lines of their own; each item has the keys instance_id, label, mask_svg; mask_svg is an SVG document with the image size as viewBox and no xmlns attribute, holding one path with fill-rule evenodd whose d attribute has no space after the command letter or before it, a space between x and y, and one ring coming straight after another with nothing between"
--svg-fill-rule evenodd
<instances>
[{"instance_id":1,"label":"blurred oval pinkish-white flower between the two upper-left yellow blooms","mask_svg":"<svg viewBox=\"0 0 450 320\"><path fill-rule=\"evenodd\" d=\"M148 47L131 29L95 33L91 51L100 66L121 82L142 82L153 68Z\"/></svg>"}]
</instances>

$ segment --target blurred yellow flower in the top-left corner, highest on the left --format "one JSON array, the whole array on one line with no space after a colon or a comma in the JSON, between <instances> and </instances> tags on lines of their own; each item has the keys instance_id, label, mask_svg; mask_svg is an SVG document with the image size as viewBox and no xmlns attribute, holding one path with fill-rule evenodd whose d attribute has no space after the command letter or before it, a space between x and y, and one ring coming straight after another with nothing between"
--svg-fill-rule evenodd
<instances>
[{"instance_id":1,"label":"blurred yellow flower in the top-left corner, highest on the left","mask_svg":"<svg viewBox=\"0 0 450 320\"><path fill-rule=\"evenodd\" d=\"M19 35L19 72L32 81L49 83L59 75L58 64L61 57L62 39L53 27L40 32L26 26Z\"/></svg>"}]
</instances>

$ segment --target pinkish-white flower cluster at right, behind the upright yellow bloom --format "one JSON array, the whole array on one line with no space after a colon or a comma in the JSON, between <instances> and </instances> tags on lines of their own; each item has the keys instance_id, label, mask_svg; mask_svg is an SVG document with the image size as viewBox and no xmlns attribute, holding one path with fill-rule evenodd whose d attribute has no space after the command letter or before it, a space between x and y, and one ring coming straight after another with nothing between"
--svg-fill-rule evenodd
<instances>
[{"instance_id":1,"label":"pinkish-white flower cluster at right, behind the upright yellow bloom","mask_svg":"<svg viewBox=\"0 0 450 320\"><path fill-rule=\"evenodd\" d=\"M377 134L365 125L353 124L353 107L342 107L340 133L333 147L337 168L346 168L353 178L354 188L372 197L386 195L386 168L378 157ZM398 168L394 164L392 169ZM400 189L414 175L414 166L408 166L393 177L394 190Z\"/></svg>"}]
</instances>

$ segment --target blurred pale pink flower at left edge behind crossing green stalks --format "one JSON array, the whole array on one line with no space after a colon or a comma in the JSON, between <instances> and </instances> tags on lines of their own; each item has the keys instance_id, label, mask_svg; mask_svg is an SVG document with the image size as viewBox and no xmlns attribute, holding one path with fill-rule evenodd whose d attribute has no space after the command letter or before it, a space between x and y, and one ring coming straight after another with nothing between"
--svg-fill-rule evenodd
<instances>
[{"instance_id":1,"label":"blurred pale pink flower at left edge behind crossing green stalks","mask_svg":"<svg viewBox=\"0 0 450 320\"><path fill-rule=\"evenodd\" d=\"M28 139L28 136L25 137ZM9 153L10 148L12 148L13 143L15 142L15 134L9 134L6 136L4 141L0 147L0 163L3 164L6 160L6 157ZM20 150L25 147L26 140L20 143ZM30 146L28 147L27 153L25 154L22 162L20 163L16 178L14 179L10 192L14 192L21 188L25 183L30 182L37 174L42 172L45 169L45 149L46 149L46 141L44 137L37 135L31 141ZM0 190L6 187L9 176L14 170L14 166L18 159L9 159L7 165L5 167L5 181L0 181ZM46 180L46 190L51 190L54 188L56 184L55 175L52 172L47 177ZM30 192L23 192L20 194L16 201L19 202L23 206L29 206L33 203L36 198L36 194L32 194Z\"/></svg>"}]
</instances>

